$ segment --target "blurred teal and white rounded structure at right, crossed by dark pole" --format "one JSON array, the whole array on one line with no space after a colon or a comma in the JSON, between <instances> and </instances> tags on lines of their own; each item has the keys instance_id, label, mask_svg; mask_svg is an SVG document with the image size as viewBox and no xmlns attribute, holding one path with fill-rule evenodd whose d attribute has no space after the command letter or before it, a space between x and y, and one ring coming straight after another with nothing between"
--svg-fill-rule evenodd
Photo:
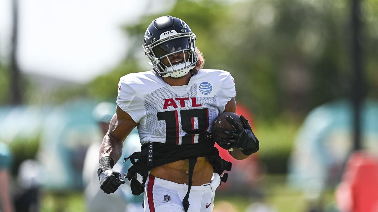
<instances>
[{"instance_id":1,"label":"blurred teal and white rounded structure at right, crossed by dark pole","mask_svg":"<svg viewBox=\"0 0 378 212\"><path fill-rule=\"evenodd\" d=\"M340 183L353 151L353 107L347 100L313 109L305 118L288 161L288 183L301 189L308 211L323 209L323 194ZM378 102L367 100L361 108L361 147L378 155Z\"/></svg>"}]
</instances>

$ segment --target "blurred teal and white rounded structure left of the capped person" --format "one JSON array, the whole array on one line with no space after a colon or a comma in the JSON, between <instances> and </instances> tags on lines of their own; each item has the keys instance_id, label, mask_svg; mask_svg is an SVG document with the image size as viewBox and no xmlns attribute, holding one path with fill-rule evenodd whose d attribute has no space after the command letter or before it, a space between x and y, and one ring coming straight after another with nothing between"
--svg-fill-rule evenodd
<instances>
[{"instance_id":1,"label":"blurred teal and white rounded structure left of the capped person","mask_svg":"<svg viewBox=\"0 0 378 212\"><path fill-rule=\"evenodd\" d=\"M92 115L94 106L91 101L69 101L46 117L38 153L46 172L45 189L82 189L85 153L92 142L102 139Z\"/></svg>"}]
</instances>

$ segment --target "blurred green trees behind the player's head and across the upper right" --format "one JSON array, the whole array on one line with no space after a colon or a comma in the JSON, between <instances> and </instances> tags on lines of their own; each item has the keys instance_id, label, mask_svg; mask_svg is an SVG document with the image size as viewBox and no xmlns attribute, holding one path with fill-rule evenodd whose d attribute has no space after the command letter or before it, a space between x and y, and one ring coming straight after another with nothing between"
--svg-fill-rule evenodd
<instances>
[{"instance_id":1,"label":"blurred green trees behind the player's head and across the upper right","mask_svg":"<svg viewBox=\"0 0 378 212\"><path fill-rule=\"evenodd\" d=\"M377 2L365 2L369 88L376 86L378 67ZM147 15L125 28L133 43L121 65L90 84L93 96L115 98L118 78L128 72L147 71L138 65L145 28L159 15L188 20L197 34L205 68L230 71L236 80L237 99L257 118L273 120L280 114L302 118L310 109L349 89L349 9L342 0L255 0L225 3L213 0L177 1L164 14ZM374 13L375 12L375 13ZM100 83L101 82L101 83ZM100 86L99 84L100 83ZM95 85L97 88L94 88ZM371 92L376 96L376 92Z\"/></svg>"}]
</instances>

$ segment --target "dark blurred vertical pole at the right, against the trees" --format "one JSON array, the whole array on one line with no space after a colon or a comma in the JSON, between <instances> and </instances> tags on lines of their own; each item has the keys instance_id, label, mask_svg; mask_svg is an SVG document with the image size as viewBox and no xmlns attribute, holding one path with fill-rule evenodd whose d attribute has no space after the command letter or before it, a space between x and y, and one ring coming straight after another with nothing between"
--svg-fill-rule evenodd
<instances>
[{"instance_id":1,"label":"dark blurred vertical pole at the right, against the trees","mask_svg":"<svg viewBox=\"0 0 378 212\"><path fill-rule=\"evenodd\" d=\"M354 149L361 149L361 106L364 101L364 73L361 56L361 2L352 0L352 104Z\"/></svg>"}]
</instances>

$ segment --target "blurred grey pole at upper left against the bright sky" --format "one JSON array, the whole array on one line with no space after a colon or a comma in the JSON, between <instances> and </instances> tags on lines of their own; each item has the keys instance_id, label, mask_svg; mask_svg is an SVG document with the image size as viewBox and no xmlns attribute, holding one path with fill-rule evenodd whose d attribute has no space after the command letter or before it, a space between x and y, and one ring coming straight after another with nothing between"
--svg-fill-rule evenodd
<instances>
[{"instance_id":1,"label":"blurred grey pole at upper left against the bright sky","mask_svg":"<svg viewBox=\"0 0 378 212\"><path fill-rule=\"evenodd\" d=\"M20 89L20 67L17 62L17 38L18 38L18 0L12 1L12 47L11 47L11 64L10 64L10 83L9 83L9 94L10 103L12 105L19 105L22 103L22 95Z\"/></svg>"}]
</instances>

